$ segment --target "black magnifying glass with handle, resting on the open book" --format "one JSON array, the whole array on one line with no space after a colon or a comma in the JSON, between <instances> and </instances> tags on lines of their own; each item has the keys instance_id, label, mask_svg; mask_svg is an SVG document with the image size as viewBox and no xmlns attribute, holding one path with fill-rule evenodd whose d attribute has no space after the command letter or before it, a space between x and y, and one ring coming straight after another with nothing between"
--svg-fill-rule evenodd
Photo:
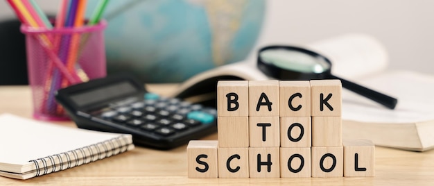
<instances>
[{"instance_id":1,"label":"black magnifying glass with handle, resting on the open book","mask_svg":"<svg viewBox=\"0 0 434 186\"><path fill-rule=\"evenodd\" d=\"M258 68L267 76L279 80L339 79L342 87L365 96L387 108L394 109L397 99L331 74L331 62L326 57L300 47L269 46L259 50Z\"/></svg>"}]
</instances>

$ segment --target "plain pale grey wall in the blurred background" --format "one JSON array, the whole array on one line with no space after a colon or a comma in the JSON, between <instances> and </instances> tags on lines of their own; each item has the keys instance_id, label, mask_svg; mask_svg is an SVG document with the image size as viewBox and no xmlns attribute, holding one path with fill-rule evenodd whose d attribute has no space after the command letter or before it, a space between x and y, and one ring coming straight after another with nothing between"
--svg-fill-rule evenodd
<instances>
[{"instance_id":1,"label":"plain pale grey wall in the blurred background","mask_svg":"<svg viewBox=\"0 0 434 186\"><path fill-rule=\"evenodd\" d=\"M92 1L92 0L89 0ZM37 0L55 15L60 1ZM434 1L268 0L259 46L306 44L345 33L366 33L388 50L390 69L434 74ZM15 17L0 1L0 20Z\"/></svg>"}]
</instances>

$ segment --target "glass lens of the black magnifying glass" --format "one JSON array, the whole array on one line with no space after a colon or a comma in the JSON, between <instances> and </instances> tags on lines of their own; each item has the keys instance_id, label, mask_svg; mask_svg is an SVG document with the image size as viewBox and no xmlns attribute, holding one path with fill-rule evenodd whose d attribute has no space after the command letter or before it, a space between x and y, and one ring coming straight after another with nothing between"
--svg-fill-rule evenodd
<instances>
[{"instance_id":1,"label":"glass lens of the black magnifying glass","mask_svg":"<svg viewBox=\"0 0 434 186\"><path fill-rule=\"evenodd\" d=\"M320 74L330 69L329 62L324 60L324 58L296 50L268 49L261 51L259 56L263 62L275 65L281 69L302 73Z\"/></svg>"}]
</instances>

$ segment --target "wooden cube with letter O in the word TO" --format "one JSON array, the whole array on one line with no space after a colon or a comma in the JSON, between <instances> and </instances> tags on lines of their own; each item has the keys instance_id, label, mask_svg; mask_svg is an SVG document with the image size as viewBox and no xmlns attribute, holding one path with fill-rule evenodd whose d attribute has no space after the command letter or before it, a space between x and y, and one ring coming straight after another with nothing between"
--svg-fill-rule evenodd
<instances>
[{"instance_id":1,"label":"wooden cube with letter O in the word TO","mask_svg":"<svg viewBox=\"0 0 434 186\"><path fill-rule=\"evenodd\" d=\"M311 147L311 117L280 117L281 147Z\"/></svg>"}]
</instances>

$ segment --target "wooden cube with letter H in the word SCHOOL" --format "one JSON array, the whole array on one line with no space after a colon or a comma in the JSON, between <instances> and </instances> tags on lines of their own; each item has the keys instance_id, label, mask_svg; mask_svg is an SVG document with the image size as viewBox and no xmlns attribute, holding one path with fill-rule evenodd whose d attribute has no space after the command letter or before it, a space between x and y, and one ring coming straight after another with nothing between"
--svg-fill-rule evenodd
<instances>
[{"instance_id":1,"label":"wooden cube with letter H in the word SCHOOL","mask_svg":"<svg viewBox=\"0 0 434 186\"><path fill-rule=\"evenodd\" d=\"M279 178L279 147L249 147L250 178Z\"/></svg>"}]
</instances>

